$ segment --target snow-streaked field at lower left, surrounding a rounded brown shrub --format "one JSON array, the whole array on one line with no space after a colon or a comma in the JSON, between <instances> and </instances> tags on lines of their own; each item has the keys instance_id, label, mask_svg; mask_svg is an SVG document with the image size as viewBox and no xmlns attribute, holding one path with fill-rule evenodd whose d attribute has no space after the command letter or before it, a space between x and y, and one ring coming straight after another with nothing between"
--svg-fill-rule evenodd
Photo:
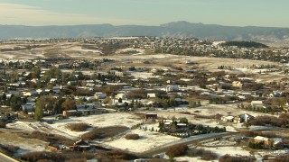
<instances>
[{"instance_id":1,"label":"snow-streaked field at lower left, surrounding a rounded brown shrub","mask_svg":"<svg viewBox=\"0 0 289 162\"><path fill-rule=\"evenodd\" d=\"M44 120L51 120L51 118L44 118ZM7 128L20 129L20 130L40 130L47 133L59 134L66 136L70 139L79 137L87 131L71 131L67 128L69 123L88 123L92 128L95 127L109 127L109 126L126 126L133 127L134 125L141 123L142 120L131 113L126 112L112 112L103 113L98 115L89 115L81 117L70 117L66 120L54 121L52 124L46 122L25 122L15 121L14 123L7 124ZM91 129L92 129L91 128ZM91 130L90 129L90 130Z\"/></svg>"}]
</instances>

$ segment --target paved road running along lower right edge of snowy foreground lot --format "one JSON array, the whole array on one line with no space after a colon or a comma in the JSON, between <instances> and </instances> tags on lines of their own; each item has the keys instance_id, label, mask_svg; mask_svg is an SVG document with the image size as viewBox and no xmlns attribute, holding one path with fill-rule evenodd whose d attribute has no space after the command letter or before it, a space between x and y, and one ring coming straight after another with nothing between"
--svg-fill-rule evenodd
<instances>
[{"instance_id":1,"label":"paved road running along lower right edge of snowy foreground lot","mask_svg":"<svg viewBox=\"0 0 289 162\"><path fill-rule=\"evenodd\" d=\"M161 154L167 150L167 148L171 147L172 145L175 144L185 144L185 145L191 145L191 144L198 144L200 141L208 140L208 139L215 139L215 138L222 138L222 137L227 137L227 136L232 136L232 135L237 135L239 134L238 132L228 132L228 133L223 133L223 134L217 134L213 136L208 136L208 137L200 137L200 138L191 138L188 139L182 139L178 142L174 142L173 144L165 145L161 148L154 148L148 151L144 151L142 153L136 154L139 157L153 157L156 154Z\"/></svg>"}]
</instances>

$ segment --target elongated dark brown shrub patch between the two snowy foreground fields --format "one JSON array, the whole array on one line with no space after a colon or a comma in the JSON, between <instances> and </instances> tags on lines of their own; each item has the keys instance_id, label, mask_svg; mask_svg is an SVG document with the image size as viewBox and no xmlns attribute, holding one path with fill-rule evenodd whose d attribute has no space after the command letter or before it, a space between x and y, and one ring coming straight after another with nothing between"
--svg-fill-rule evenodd
<instances>
[{"instance_id":1,"label":"elongated dark brown shrub patch between the two snowy foreground fields","mask_svg":"<svg viewBox=\"0 0 289 162\"><path fill-rule=\"evenodd\" d=\"M124 132L128 130L127 127L124 126L113 126L113 127L105 127L105 128L98 128L91 130L87 133L84 133L82 135L82 139L105 139L105 138L110 138L114 137L117 134Z\"/></svg>"}]
</instances>

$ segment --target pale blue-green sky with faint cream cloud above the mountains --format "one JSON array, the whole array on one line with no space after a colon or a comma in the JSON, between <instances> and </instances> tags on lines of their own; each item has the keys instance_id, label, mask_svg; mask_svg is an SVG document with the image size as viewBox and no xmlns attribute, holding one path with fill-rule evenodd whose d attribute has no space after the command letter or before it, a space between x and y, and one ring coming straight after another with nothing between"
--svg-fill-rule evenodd
<instances>
[{"instance_id":1,"label":"pale blue-green sky with faint cream cloud above the mountains","mask_svg":"<svg viewBox=\"0 0 289 162\"><path fill-rule=\"evenodd\" d=\"M289 27L289 0L0 0L0 24Z\"/></svg>"}]
</instances>

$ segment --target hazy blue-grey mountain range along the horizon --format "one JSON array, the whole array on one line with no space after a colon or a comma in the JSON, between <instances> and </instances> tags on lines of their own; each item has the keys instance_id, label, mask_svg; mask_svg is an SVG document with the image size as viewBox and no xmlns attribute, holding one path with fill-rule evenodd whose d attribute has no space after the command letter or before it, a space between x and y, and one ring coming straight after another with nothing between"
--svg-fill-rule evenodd
<instances>
[{"instance_id":1,"label":"hazy blue-grey mountain range along the horizon","mask_svg":"<svg viewBox=\"0 0 289 162\"><path fill-rule=\"evenodd\" d=\"M289 28L236 27L188 22L165 23L160 26L144 25L71 25L23 26L0 25L0 39L84 38L117 36L193 37L209 40L289 40Z\"/></svg>"}]
</instances>

